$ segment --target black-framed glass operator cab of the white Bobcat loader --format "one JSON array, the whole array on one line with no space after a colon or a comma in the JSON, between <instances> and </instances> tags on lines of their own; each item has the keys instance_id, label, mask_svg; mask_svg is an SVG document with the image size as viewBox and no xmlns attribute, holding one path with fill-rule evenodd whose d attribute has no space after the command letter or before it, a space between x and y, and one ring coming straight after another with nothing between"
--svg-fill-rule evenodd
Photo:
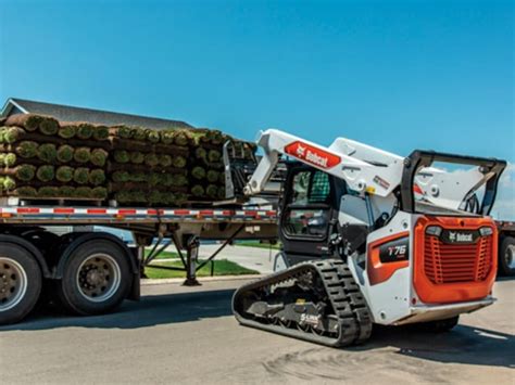
<instances>
[{"instance_id":1,"label":"black-framed glass operator cab of the white Bobcat loader","mask_svg":"<svg viewBox=\"0 0 515 385\"><path fill-rule=\"evenodd\" d=\"M288 264L330 257L329 238L346 183L313 167L288 165L279 238Z\"/></svg>"}]
</instances>

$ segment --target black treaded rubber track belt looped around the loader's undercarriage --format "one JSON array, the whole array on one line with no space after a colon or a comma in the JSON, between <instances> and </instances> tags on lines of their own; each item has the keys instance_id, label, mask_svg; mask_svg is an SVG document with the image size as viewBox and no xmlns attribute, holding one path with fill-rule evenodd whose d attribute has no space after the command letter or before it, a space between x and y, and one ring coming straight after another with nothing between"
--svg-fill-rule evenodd
<instances>
[{"instance_id":1,"label":"black treaded rubber track belt looped around the loader's undercarriage","mask_svg":"<svg viewBox=\"0 0 515 385\"><path fill-rule=\"evenodd\" d=\"M340 328L337 337L319 336L309 331L303 332L281 325L263 323L255 319L246 318L244 315L240 315L236 310L238 308L236 305L246 292L282 283L312 270L315 270L322 278L327 297L338 318ZM233 312L242 325L331 347L360 344L368 339L372 333L372 318L365 298L349 267L339 259L302 262L262 280L248 283L236 291L233 297Z\"/></svg>"}]
</instances>

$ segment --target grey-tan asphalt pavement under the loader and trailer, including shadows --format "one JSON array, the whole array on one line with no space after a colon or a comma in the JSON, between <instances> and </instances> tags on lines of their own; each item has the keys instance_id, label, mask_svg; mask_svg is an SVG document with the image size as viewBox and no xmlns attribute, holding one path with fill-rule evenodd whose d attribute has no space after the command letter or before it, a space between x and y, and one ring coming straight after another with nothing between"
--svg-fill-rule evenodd
<instances>
[{"instance_id":1,"label":"grey-tan asphalt pavement under the loader and trailer, including shadows","mask_svg":"<svg viewBox=\"0 0 515 385\"><path fill-rule=\"evenodd\" d=\"M450 333L380 328L346 349L238 325L230 298L243 282L145 285L109 316L40 309L0 328L0 383L515 383L515 280Z\"/></svg>"}]
</instances>

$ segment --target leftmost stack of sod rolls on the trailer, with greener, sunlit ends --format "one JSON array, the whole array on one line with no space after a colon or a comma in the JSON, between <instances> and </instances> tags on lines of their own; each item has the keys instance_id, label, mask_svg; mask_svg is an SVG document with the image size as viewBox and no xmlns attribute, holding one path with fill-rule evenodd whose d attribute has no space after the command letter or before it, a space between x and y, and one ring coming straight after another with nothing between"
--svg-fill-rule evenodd
<instances>
[{"instance_id":1,"label":"leftmost stack of sod rolls on the trailer, with greener, sunlit ends","mask_svg":"<svg viewBox=\"0 0 515 385\"><path fill-rule=\"evenodd\" d=\"M11 116L0 128L2 195L105 200L108 139L104 126Z\"/></svg>"}]
</instances>

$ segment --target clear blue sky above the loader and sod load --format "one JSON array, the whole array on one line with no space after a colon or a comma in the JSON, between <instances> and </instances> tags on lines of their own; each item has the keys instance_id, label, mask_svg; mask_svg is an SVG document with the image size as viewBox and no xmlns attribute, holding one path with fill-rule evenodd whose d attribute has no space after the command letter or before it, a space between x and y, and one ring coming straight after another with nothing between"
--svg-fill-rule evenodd
<instances>
[{"instance_id":1,"label":"clear blue sky above the loader and sod load","mask_svg":"<svg viewBox=\"0 0 515 385\"><path fill-rule=\"evenodd\" d=\"M514 47L513 1L0 0L0 103L513 164Z\"/></svg>"}]
</instances>

